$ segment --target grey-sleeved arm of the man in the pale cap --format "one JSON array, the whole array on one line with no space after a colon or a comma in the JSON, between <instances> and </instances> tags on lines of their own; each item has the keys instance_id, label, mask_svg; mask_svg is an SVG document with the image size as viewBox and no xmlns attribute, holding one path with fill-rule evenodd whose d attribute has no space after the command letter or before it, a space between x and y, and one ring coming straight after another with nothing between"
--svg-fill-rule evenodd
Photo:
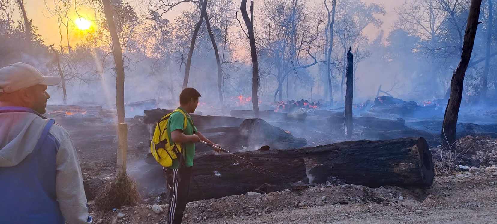
<instances>
[{"instance_id":1,"label":"grey-sleeved arm of the man in the pale cap","mask_svg":"<svg viewBox=\"0 0 497 224\"><path fill-rule=\"evenodd\" d=\"M68 224L88 224L88 208L83 188L80 161L69 133L62 127L52 127L60 143L56 164L56 196ZM58 130L57 130L58 129Z\"/></svg>"}]
</instances>

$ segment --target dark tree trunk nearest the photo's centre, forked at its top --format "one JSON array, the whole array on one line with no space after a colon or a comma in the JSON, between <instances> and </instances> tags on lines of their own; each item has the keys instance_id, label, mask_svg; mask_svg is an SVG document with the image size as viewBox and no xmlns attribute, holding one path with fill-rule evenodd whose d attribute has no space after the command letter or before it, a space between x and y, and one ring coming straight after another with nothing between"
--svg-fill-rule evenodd
<instances>
[{"instance_id":1,"label":"dark tree trunk nearest the photo's centre, forked at its top","mask_svg":"<svg viewBox=\"0 0 497 224\"><path fill-rule=\"evenodd\" d=\"M259 118L259 100L257 90L259 84L259 64L257 62L257 49L255 48L255 37L253 34L253 1L250 0L250 18L247 12L247 0L242 0L240 6L242 16L248 31L248 41L250 44L250 57L252 58L252 110L256 118Z\"/></svg>"}]
</instances>

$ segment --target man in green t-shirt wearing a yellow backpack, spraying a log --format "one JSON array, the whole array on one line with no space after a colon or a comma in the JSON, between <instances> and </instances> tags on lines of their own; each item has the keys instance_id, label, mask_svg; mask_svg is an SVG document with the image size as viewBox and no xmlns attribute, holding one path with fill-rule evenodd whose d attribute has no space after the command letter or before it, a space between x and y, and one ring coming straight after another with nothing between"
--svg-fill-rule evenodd
<instances>
[{"instance_id":1,"label":"man in green t-shirt wearing a yellow backpack, spraying a log","mask_svg":"<svg viewBox=\"0 0 497 224\"><path fill-rule=\"evenodd\" d=\"M166 172L169 224L180 224L183 219L195 156L195 142L202 140L220 147L202 135L188 115L195 112L200 97L197 90L184 89L179 95L179 108L157 122L151 142L152 155Z\"/></svg>"}]
</instances>

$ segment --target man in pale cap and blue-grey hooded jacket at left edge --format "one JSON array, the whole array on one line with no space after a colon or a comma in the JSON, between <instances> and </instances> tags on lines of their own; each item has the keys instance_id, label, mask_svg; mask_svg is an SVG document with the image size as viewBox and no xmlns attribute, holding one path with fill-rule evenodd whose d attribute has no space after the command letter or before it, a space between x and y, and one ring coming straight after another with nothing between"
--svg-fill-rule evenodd
<instances>
[{"instance_id":1,"label":"man in pale cap and blue-grey hooded jacket at left edge","mask_svg":"<svg viewBox=\"0 0 497 224\"><path fill-rule=\"evenodd\" d=\"M60 81L24 63L0 69L0 223L91 223L69 133L41 115Z\"/></svg>"}]
</instances>

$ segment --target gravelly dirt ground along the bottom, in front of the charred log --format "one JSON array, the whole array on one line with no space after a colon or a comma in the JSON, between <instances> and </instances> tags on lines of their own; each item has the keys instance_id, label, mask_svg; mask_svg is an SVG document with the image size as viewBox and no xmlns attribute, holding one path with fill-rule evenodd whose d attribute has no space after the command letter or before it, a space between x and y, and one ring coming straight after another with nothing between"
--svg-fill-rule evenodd
<instances>
[{"instance_id":1,"label":"gravelly dirt ground along the bottom, in front of the charred log","mask_svg":"<svg viewBox=\"0 0 497 224\"><path fill-rule=\"evenodd\" d=\"M494 224L497 223L495 172L497 167L459 178L437 177L424 191L337 185L203 200L188 203L183 223ZM168 205L161 205L164 211L159 215L149 207L142 204L115 212L93 211L92 216L97 224L166 224ZM119 213L124 217L118 219Z\"/></svg>"}]
</instances>

